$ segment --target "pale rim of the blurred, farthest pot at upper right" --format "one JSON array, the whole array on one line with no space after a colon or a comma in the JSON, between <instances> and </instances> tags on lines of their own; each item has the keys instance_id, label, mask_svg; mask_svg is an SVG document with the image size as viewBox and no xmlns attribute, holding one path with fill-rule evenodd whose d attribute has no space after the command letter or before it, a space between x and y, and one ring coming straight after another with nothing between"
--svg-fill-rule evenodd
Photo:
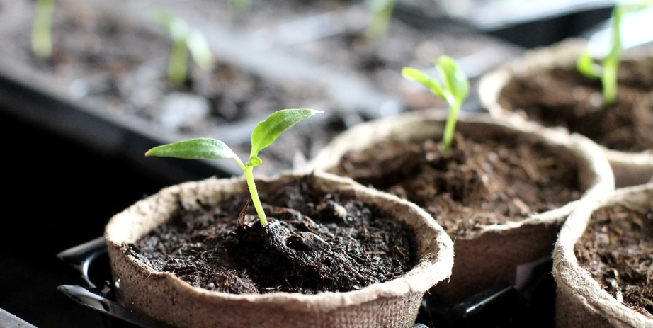
<instances>
[{"instance_id":1,"label":"pale rim of the blurred, farthest pot at upper right","mask_svg":"<svg viewBox=\"0 0 653 328\"><path fill-rule=\"evenodd\" d=\"M528 121L528 118L514 111L506 110L499 103L501 91L508 84L513 76L532 74L533 72L543 72L556 67L575 67L579 54L587 47L586 40L578 38L568 38L560 43L555 43L547 47L538 47L526 52L522 57L504 64L494 69L492 72L484 74L479 80L479 100L481 106L496 118L506 118L511 120ZM623 60L635 60L637 56L642 56L642 51L633 50L625 52ZM652 57L651 54L645 53L646 56ZM535 122L533 122L535 123ZM535 123L538 124L538 123ZM562 127L552 127L564 129ZM598 145L608 158L608 162L616 166L632 166L642 171L647 171L649 176L653 176L653 152L651 150L642 150L641 152L622 152L615 149L608 149L603 145ZM615 171L615 174L618 172ZM644 173L643 175L645 175ZM622 178L618 177L619 182ZM628 183L620 183L628 184Z\"/></svg>"}]
</instances>

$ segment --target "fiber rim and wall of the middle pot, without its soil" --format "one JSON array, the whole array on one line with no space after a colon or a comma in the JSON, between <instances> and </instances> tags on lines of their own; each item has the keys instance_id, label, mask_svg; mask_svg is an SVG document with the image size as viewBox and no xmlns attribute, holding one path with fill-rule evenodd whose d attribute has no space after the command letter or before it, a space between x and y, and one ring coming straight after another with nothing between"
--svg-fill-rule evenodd
<instances>
[{"instance_id":1,"label":"fiber rim and wall of the middle pot, without its soil","mask_svg":"<svg viewBox=\"0 0 653 328\"><path fill-rule=\"evenodd\" d=\"M382 140L439 139L446 115L446 111L421 111L360 124L332 140L309 166L316 171L329 171L346 152L363 151ZM579 189L583 192L581 200L562 208L520 222L488 225L478 232L456 237L452 275L436 286L436 292L448 300L460 301L499 281L516 283L518 265L550 256L564 217L581 201L613 191L614 181L601 149L581 135L570 136L532 123L512 125L489 115L461 115L456 131L472 140L506 135L523 142L543 141L559 159L578 167Z\"/></svg>"}]
</instances>

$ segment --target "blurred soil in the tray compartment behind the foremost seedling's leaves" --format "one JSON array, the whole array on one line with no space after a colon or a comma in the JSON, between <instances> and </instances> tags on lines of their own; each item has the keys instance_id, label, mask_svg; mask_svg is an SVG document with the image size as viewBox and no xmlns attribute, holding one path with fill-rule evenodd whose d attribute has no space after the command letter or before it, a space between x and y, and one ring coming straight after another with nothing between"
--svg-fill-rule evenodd
<instances>
[{"instance_id":1,"label":"blurred soil in the tray compartment behind the foremost seedling's leaves","mask_svg":"<svg viewBox=\"0 0 653 328\"><path fill-rule=\"evenodd\" d=\"M29 19L33 1L16 5L16 26L0 30L0 54L51 77L53 85L74 98L114 115L146 120L164 132L186 137L231 137L237 154L249 156L251 129L267 115L282 108L315 108L330 113L327 120L310 120L312 128L297 135L302 147L291 147L288 137L261 153L266 165L260 174L291 169L293 154L312 157L331 137L345 130L343 111L317 86L302 81L269 81L217 57L212 72L204 72L189 60L189 78L183 86L167 80L171 42L154 23L128 21L119 13L90 4L66 1L55 7L52 28L54 54L37 60L30 50ZM20 23L20 24L19 24ZM21 25L22 24L22 25ZM11 24L10 24L11 25ZM219 55L219 54L218 54ZM225 135L226 125L242 124L244 132ZM319 131L319 133L314 133ZM242 147L237 145L242 142ZM276 160L281 159L281 160ZM285 159L285 160L284 160Z\"/></svg>"}]
</instances>

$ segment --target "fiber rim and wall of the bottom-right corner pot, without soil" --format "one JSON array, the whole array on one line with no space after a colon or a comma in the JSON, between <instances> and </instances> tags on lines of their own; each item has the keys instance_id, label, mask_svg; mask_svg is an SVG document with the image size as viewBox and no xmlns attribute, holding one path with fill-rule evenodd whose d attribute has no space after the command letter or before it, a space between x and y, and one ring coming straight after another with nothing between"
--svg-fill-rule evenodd
<instances>
[{"instance_id":1,"label":"fiber rim and wall of the bottom-right corner pot, without soil","mask_svg":"<svg viewBox=\"0 0 653 328\"><path fill-rule=\"evenodd\" d=\"M653 319L630 309L608 294L574 255L595 210L615 204L653 210L653 184L618 189L598 202L579 206L560 230L553 254L553 277L557 283L555 327L652 328Z\"/></svg>"}]
</instances>

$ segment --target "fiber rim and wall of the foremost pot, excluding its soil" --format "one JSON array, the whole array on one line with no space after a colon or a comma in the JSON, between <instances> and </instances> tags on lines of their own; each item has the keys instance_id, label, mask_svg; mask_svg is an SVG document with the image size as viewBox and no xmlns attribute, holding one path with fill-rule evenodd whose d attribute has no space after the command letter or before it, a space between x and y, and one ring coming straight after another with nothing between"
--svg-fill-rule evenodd
<instances>
[{"instance_id":1,"label":"fiber rim and wall of the foremost pot, excluding its soil","mask_svg":"<svg viewBox=\"0 0 653 328\"><path fill-rule=\"evenodd\" d=\"M301 176L283 174L256 184L264 195ZM327 193L353 193L413 227L416 266L401 278L346 293L233 295L192 287L123 252L123 244L169 220L179 202L196 208L196 199L211 205L234 193L248 194L244 177L207 179L164 188L111 218L105 238L113 280L120 285L118 299L131 310L176 327L410 327L426 290L450 276L451 239L424 210L405 200L331 174L314 174L312 183Z\"/></svg>"}]
</instances>

